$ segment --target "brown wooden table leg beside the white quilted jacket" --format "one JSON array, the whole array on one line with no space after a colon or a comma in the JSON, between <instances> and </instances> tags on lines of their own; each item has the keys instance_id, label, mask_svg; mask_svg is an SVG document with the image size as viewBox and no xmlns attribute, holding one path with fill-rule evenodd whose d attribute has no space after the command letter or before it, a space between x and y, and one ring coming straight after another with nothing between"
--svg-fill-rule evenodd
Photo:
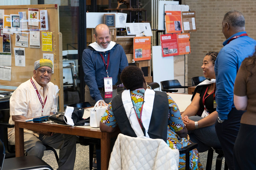
<instances>
[{"instance_id":1,"label":"brown wooden table leg beside the white quilted jacket","mask_svg":"<svg viewBox=\"0 0 256 170\"><path fill-rule=\"evenodd\" d=\"M108 169L110 160L110 136L100 139L101 146L101 169Z\"/></svg>"}]
</instances>

